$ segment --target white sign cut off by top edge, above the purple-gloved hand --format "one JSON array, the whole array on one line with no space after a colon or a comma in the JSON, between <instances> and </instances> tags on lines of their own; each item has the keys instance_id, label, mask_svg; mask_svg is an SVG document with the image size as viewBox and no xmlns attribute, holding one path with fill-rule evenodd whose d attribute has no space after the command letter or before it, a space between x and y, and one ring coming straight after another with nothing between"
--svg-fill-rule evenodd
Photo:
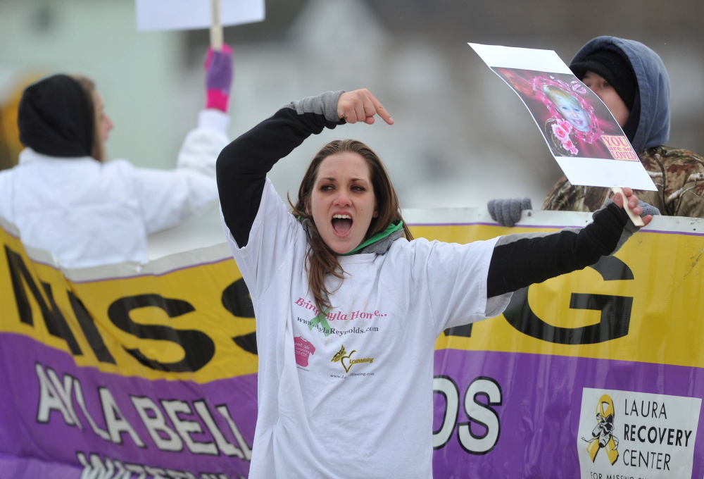
<instances>
[{"instance_id":1,"label":"white sign cut off by top edge, above the purple-gloved hand","mask_svg":"<svg viewBox=\"0 0 704 479\"><path fill-rule=\"evenodd\" d=\"M135 0L137 30L210 28L210 0ZM264 20L264 0L220 0L223 27Z\"/></svg>"}]
</instances>

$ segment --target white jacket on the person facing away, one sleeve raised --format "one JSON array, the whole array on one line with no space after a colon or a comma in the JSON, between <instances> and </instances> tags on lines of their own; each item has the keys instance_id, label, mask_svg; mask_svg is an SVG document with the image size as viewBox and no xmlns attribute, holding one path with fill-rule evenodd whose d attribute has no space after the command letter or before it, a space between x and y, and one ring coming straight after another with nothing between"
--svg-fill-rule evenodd
<instances>
[{"instance_id":1,"label":"white jacket on the person facing away, one sleeve raised","mask_svg":"<svg viewBox=\"0 0 704 479\"><path fill-rule=\"evenodd\" d=\"M23 244L51 251L64 268L144 262L147 235L218 201L215 160L228 123L225 113L201 111L174 170L27 148L18 166L0 171L0 216L18 227Z\"/></svg>"}]
</instances>

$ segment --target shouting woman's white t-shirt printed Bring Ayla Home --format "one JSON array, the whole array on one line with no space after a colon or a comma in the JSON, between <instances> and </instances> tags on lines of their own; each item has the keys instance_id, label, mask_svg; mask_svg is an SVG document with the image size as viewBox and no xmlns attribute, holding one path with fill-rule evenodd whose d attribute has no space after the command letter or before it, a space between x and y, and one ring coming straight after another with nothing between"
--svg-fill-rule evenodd
<instances>
[{"instance_id":1,"label":"shouting woman's white t-shirt printed Bring Ayla Home","mask_svg":"<svg viewBox=\"0 0 704 479\"><path fill-rule=\"evenodd\" d=\"M341 256L325 321L310 293L308 243L266 181L249 242L232 254L257 318L258 417L251 479L432 478L433 355L454 325L496 316L486 277L497 239L397 239Z\"/></svg>"}]
</instances>

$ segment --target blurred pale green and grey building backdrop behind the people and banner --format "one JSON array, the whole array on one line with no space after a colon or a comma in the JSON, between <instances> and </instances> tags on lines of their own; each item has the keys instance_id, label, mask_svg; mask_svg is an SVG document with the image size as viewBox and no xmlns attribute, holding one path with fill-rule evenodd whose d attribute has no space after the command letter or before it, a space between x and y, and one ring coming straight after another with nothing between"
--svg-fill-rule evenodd
<instances>
[{"instance_id":1,"label":"blurred pale green and grey building backdrop behind the people and banner","mask_svg":"<svg viewBox=\"0 0 704 479\"><path fill-rule=\"evenodd\" d=\"M569 63L597 35L639 40L672 80L668 144L704 154L698 0L267 0L266 12L263 23L225 29L235 59L232 138L292 99L331 89L367 87L396 120L309 139L270 175L284 197L322 144L354 137L382 156L406 208L510 196L539 208L560 170L520 99L467 42L552 49ZM203 105L208 32L134 25L134 0L0 0L0 135L19 79L78 71L96 80L115 123L108 155L172 167ZM213 211L154 237L152 256L221 238Z\"/></svg>"}]
</instances>

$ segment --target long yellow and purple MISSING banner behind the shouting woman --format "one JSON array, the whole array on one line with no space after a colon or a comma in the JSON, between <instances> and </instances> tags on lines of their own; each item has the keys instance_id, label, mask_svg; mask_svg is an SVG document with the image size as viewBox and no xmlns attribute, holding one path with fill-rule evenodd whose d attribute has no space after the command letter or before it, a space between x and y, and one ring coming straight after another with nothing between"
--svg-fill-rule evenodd
<instances>
[{"instance_id":1,"label":"long yellow and purple MISSING banner behind the shouting woman","mask_svg":"<svg viewBox=\"0 0 704 479\"><path fill-rule=\"evenodd\" d=\"M406 219L460 243L589 220L485 215ZM0 478L246 478L255 321L225 244L61 270L0 227ZM444 332L435 477L701 478L702 232L656 218L615 256Z\"/></svg>"}]
</instances>

